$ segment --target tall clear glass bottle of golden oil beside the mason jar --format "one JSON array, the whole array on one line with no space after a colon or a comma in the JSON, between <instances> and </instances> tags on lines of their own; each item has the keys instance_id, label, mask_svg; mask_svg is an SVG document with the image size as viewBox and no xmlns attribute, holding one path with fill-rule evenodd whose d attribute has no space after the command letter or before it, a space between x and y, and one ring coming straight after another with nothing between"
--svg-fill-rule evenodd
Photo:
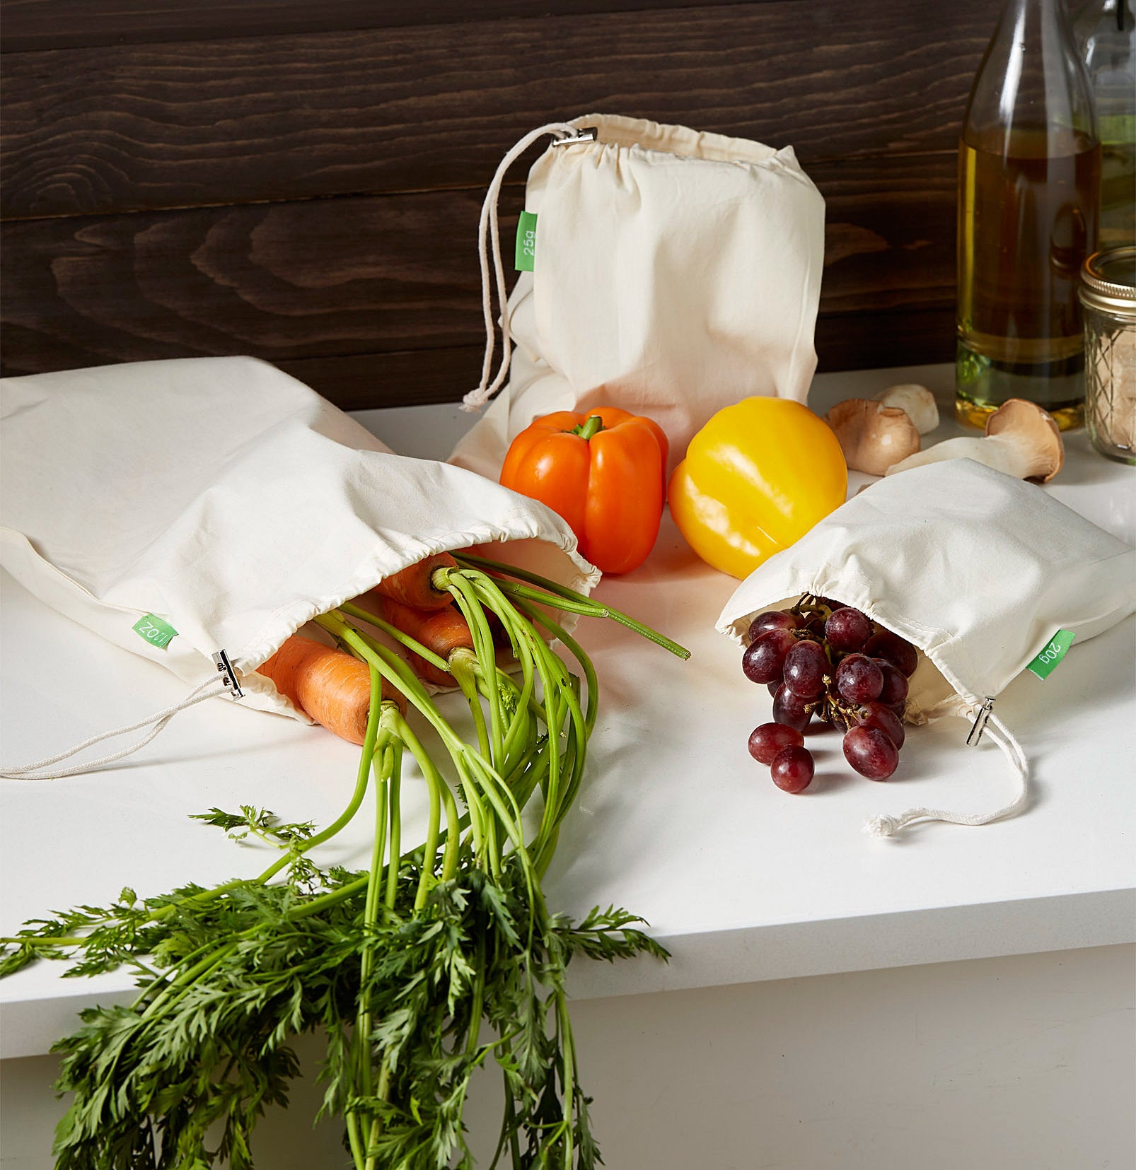
<instances>
[{"instance_id":1,"label":"tall clear glass bottle of golden oil beside the mason jar","mask_svg":"<svg viewBox=\"0 0 1136 1170\"><path fill-rule=\"evenodd\" d=\"M1062 0L1005 0L959 139L956 413L1008 398L1083 414L1077 277L1096 249L1101 146Z\"/></svg>"}]
</instances>

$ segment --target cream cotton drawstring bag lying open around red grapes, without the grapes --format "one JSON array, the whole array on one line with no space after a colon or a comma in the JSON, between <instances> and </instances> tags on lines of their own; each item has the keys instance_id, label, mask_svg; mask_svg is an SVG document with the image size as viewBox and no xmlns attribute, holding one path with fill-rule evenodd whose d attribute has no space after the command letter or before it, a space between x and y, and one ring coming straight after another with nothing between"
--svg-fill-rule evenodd
<instances>
[{"instance_id":1,"label":"cream cotton drawstring bag lying open around red grapes, without the grapes","mask_svg":"<svg viewBox=\"0 0 1136 1170\"><path fill-rule=\"evenodd\" d=\"M865 831L887 837L921 819L983 825L1026 800L1027 762L993 714L998 695L1059 631L1080 645L1136 610L1136 551L1034 484L951 460L854 496L755 569L718 628L740 642L758 613L802 593L855 606L922 651L906 718L963 716L971 743L988 718L1019 776L1015 798L993 812L909 808Z\"/></svg>"}]
</instances>

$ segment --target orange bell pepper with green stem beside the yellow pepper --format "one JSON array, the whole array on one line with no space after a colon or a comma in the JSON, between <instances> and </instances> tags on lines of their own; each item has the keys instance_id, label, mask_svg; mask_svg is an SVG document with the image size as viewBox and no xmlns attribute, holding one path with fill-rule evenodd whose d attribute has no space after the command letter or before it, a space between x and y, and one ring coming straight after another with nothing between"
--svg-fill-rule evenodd
<instances>
[{"instance_id":1,"label":"orange bell pepper with green stem beside the yellow pepper","mask_svg":"<svg viewBox=\"0 0 1136 1170\"><path fill-rule=\"evenodd\" d=\"M666 453L666 435L651 419L615 406L556 411L513 440L500 479L562 516L597 569L625 573L658 536Z\"/></svg>"}]
</instances>

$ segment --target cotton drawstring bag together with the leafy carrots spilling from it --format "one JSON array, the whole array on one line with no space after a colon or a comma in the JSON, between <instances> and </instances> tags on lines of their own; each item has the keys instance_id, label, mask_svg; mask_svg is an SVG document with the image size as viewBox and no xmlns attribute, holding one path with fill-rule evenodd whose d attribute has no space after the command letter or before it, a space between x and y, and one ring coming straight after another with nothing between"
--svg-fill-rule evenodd
<instances>
[{"instance_id":1,"label":"cotton drawstring bag together with the leafy carrots spilling from it","mask_svg":"<svg viewBox=\"0 0 1136 1170\"><path fill-rule=\"evenodd\" d=\"M238 693L361 746L324 828L251 806L199 814L271 844L259 876L124 890L4 940L0 975L42 958L139 972L134 1004L84 1011L56 1046L70 1095L60 1170L252 1168L255 1122L287 1102L292 1041L312 1031L327 1044L322 1112L342 1119L355 1170L474 1165L463 1107L490 1065L504 1110L483 1164L594 1166L566 970L576 955L664 952L634 915L574 922L541 889L597 716L570 629L609 618L682 647L587 597L596 574L543 504L390 454L262 363L144 363L4 391L5 567L192 684L119 729L152 724L115 755L60 768L62 752L5 777L105 768L185 706ZM468 718L443 714L439 687ZM404 833L409 785L429 794L423 834ZM322 868L313 851L368 792L370 865Z\"/></svg>"}]
</instances>

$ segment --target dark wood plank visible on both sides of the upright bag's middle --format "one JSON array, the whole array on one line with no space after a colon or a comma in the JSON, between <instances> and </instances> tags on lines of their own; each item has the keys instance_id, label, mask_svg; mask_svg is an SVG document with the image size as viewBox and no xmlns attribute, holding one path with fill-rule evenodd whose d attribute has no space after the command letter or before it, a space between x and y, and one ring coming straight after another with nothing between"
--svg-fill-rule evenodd
<instances>
[{"instance_id":1,"label":"dark wood plank visible on both sides of the upright bag's middle","mask_svg":"<svg viewBox=\"0 0 1136 1170\"><path fill-rule=\"evenodd\" d=\"M820 164L814 178L822 316L953 304L953 154ZM519 209L508 192L506 242ZM479 211L478 192L440 191L13 221L5 369L478 345Z\"/></svg>"}]
</instances>

